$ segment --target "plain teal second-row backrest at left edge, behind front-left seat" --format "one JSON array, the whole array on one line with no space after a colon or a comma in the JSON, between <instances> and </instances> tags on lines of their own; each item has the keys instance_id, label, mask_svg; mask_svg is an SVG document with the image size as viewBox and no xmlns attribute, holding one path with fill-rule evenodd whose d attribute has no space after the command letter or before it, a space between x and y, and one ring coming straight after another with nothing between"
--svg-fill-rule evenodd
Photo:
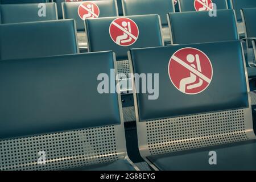
<instances>
[{"instance_id":1,"label":"plain teal second-row backrest at left edge, behind front-left seat","mask_svg":"<svg viewBox=\"0 0 256 182\"><path fill-rule=\"evenodd\" d=\"M0 60L79 53L73 19L0 25Z\"/></svg>"}]
</instances>

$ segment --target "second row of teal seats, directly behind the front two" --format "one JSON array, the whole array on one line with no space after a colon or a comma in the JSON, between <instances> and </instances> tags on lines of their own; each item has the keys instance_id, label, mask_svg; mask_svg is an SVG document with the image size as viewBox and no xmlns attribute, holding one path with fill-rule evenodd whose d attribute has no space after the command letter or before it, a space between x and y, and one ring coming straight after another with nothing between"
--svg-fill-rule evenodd
<instances>
[{"instance_id":1,"label":"second row of teal seats, directly behind the front two","mask_svg":"<svg viewBox=\"0 0 256 182\"><path fill-rule=\"evenodd\" d=\"M171 32L171 44L189 44L203 42L218 42L239 40L236 26L236 16L233 10L217 10L217 17L208 16L207 11L169 13L168 24ZM255 58L253 44L250 38L256 37L254 16L256 9L243 9L244 22L246 24L246 58L249 78L255 78ZM88 36L89 52L113 50L117 55L118 73L129 73L127 51L130 48L163 46L162 32L159 26L158 15L126 16L139 28L137 42L128 47L122 47L113 42L109 35L109 26L117 17L86 19L85 26ZM68 23L69 22L69 23ZM69 28L66 28L69 24ZM45 28L42 29L41 26ZM1 27L1 60L38 57L48 55L60 55L65 53L77 53L76 25L74 20L55 20L47 22L11 23L2 24ZM80 25L79 25L80 27ZM18 30L18 31L17 31ZM36 31L35 31L36 30ZM146 32L146 33L143 33ZM198 32L207 32L199 34ZM30 36L26 36L31 34ZM8 35L8 36L7 36ZM100 35L100 36L99 36ZM148 39L150 35L150 39ZM52 42L46 46L48 41ZM38 42L39 41L39 42ZM31 42L30 52L24 51L24 44ZM254 42L254 41L253 41ZM35 46L37 44L37 46ZM43 51L42 51L43 50ZM15 51L15 54L11 52Z\"/></svg>"}]
</instances>

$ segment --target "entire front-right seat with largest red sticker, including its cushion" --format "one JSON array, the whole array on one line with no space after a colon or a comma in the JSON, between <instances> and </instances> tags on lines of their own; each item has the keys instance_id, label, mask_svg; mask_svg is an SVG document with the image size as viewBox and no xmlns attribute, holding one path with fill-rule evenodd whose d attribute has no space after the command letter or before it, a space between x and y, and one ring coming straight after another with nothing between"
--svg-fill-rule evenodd
<instances>
[{"instance_id":1,"label":"entire front-right seat with largest red sticker, including its cushion","mask_svg":"<svg viewBox=\"0 0 256 182\"><path fill-rule=\"evenodd\" d=\"M256 169L256 137L240 41L131 49L130 61L131 73L159 74L158 99L134 92L139 150L152 167ZM189 72L196 76L195 82L183 80ZM132 80L133 89L140 90L136 86L142 82ZM214 162L210 151L217 152L217 165L210 165Z\"/></svg>"}]
</instances>

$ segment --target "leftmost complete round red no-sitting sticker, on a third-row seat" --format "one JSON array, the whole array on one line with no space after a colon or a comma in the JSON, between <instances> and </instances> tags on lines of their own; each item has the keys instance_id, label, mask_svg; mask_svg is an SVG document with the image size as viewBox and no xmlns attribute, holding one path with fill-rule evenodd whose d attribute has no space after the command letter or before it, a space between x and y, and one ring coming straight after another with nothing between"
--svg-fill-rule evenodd
<instances>
[{"instance_id":1,"label":"leftmost complete round red no-sitting sticker, on a third-row seat","mask_svg":"<svg viewBox=\"0 0 256 182\"><path fill-rule=\"evenodd\" d=\"M93 2L83 2L79 5L78 14L82 20L87 18L98 18L100 15L100 9Z\"/></svg>"}]
</instances>

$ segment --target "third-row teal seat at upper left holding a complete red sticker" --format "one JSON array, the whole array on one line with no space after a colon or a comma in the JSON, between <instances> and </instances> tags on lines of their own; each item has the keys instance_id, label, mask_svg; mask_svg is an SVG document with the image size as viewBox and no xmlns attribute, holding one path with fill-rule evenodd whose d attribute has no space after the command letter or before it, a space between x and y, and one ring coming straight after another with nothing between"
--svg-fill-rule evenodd
<instances>
[{"instance_id":1,"label":"third-row teal seat at upper left holding a complete red sticker","mask_svg":"<svg viewBox=\"0 0 256 182\"><path fill-rule=\"evenodd\" d=\"M117 2L115 0L105 1L88 1L98 6L100 17L118 16ZM87 40L85 34L84 20L80 18L78 9L80 5L85 2L63 2L63 18L64 19L75 19L77 27L77 38L80 48L87 48Z\"/></svg>"}]
</instances>

